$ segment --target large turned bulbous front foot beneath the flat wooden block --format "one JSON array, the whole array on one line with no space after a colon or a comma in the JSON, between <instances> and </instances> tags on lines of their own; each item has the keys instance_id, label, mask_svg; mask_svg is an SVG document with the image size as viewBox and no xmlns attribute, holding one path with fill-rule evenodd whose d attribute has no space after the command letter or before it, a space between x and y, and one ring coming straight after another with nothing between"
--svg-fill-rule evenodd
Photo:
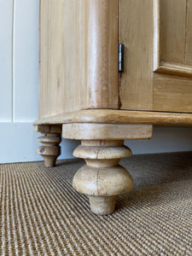
<instances>
[{"instance_id":1,"label":"large turned bulbous front foot beneath the flat wooden block","mask_svg":"<svg viewBox=\"0 0 192 256\"><path fill-rule=\"evenodd\" d=\"M73 188L88 195L92 212L112 213L117 195L133 187L131 175L119 166L121 158L131 156L131 149L123 141L82 141L73 154L86 161L73 177Z\"/></svg>"}]
</instances>

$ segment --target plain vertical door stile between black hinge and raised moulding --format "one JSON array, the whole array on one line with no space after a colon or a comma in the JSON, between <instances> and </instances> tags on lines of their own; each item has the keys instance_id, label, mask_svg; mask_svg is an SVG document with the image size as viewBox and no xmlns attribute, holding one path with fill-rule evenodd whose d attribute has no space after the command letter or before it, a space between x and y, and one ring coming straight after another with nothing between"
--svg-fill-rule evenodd
<instances>
[{"instance_id":1,"label":"plain vertical door stile between black hinge and raised moulding","mask_svg":"<svg viewBox=\"0 0 192 256\"><path fill-rule=\"evenodd\" d=\"M152 110L153 1L119 0L119 16L119 41L125 44L121 109Z\"/></svg>"}]
</instances>

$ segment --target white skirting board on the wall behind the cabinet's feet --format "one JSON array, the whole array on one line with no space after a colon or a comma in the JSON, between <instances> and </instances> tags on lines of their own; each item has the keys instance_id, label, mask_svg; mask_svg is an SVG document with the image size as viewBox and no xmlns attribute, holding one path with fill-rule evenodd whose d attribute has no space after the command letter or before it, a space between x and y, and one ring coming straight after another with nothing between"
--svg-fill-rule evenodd
<instances>
[{"instance_id":1,"label":"white skirting board on the wall behind the cabinet's feet","mask_svg":"<svg viewBox=\"0 0 192 256\"><path fill-rule=\"evenodd\" d=\"M32 123L0 123L0 163L43 160L36 154L40 135L33 132ZM58 159L73 158L73 149L79 142L63 139L61 156ZM150 140L125 141L133 154L154 154L165 152L192 151L192 128L154 127Z\"/></svg>"}]
</instances>

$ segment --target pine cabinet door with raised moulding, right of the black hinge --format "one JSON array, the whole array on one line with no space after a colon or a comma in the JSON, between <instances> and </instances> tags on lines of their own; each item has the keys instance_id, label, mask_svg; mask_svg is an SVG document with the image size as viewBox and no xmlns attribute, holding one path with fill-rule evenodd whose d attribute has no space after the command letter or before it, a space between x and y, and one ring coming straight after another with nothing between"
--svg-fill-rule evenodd
<instances>
[{"instance_id":1,"label":"pine cabinet door with raised moulding, right of the black hinge","mask_svg":"<svg viewBox=\"0 0 192 256\"><path fill-rule=\"evenodd\" d=\"M192 0L119 0L121 109L192 112Z\"/></svg>"}]
</instances>

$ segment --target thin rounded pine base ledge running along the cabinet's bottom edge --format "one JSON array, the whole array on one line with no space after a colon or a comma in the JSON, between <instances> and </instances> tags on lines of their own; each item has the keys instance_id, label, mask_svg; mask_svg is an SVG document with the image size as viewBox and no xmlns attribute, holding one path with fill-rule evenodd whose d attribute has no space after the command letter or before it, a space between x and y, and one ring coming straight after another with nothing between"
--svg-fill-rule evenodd
<instances>
[{"instance_id":1,"label":"thin rounded pine base ledge running along the cabinet's bottom edge","mask_svg":"<svg viewBox=\"0 0 192 256\"><path fill-rule=\"evenodd\" d=\"M192 113L164 113L148 111L127 111L112 109L91 109L64 113L47 119L38 119L35 131L47 125L94 123L94 124L146 124L191 126ZM36 127L38 126L38 127Z\"/></svg>"}]
</instances>

